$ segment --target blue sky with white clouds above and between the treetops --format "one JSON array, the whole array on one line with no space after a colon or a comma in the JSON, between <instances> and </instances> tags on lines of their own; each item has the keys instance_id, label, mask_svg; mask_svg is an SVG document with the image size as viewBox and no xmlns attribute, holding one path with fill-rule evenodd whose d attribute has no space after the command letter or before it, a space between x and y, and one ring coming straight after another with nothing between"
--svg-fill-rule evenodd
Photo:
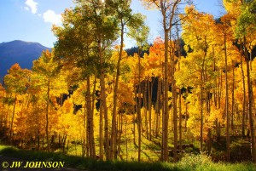
<instances>
[{"instance_id":1,"label":"blue sky with white clouds above and between the treetops","mask_svg":"<svg viewBox=\"0 0 256 171\"><path fill-rule=\"evenodd\" d=\"M215 17L223 14L219 0L195 0L195 5L198 10ZM56 38L51 27L53 24L61 26L61 13L72 6L73 0L0 0L0 43L23 40L52 48ZM132 0L131 9L147 15L149 41L153 42L160 35L160 13L143 9L139 0ZM131 44L126 40L126 47Z\"/></svg>"}]
</instances>

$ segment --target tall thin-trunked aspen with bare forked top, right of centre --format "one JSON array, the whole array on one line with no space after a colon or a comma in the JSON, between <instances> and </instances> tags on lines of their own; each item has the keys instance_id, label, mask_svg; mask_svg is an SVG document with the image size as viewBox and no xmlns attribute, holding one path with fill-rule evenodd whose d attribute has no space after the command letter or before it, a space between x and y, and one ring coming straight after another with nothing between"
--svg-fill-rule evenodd
<instances>
[{"instance_id":1,"label":"tall thin-trunked aspen with bare forked top, right of centre","mask_svg":"<svg viewBox=\"0 0 256 171\"><path fill-rule=\"evenodd\" d=\"M180 3L188 3L189 1L182 0L142 0L145 5L154 5L154 8L159 9L162 14L162 28L164 31L164 42L165 42L165 70L164 70L164 113L163 113L163 131L162 131L162 141L163 141L163 161L169 161L169 151L168 151L168 121L169 121L169 108L168 108L168 90L169 83L168 78L173 77L174 72L171 72L171 75L168 73L168 43L169 43L169 32L172 30L172 26L176 25L177 22L174 21L175 15L177 15L177 9ZM172 80L174 81L174 80ZM172 91L176 91L175 82L172 83ZM175 98L172 98L172 104L177 105L175 103ZM176 106L177 107L177 106ZM174 115L177 115L175 113ZM177 128L175 128L177 130ZM174 135L177 133L174 133ZM174 137L174 161L177 161L177 136Z\"/></svg>"}]
</instances>

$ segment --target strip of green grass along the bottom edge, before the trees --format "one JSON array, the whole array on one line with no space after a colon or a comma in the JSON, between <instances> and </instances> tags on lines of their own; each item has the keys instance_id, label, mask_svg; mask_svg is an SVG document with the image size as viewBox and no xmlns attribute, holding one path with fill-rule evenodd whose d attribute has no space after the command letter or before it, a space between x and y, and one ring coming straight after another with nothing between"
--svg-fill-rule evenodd
<instances>
[{"instance_id":1,"label":"strip of green grass along the bottom edge, before the trees","mask_svg":"<svg viewBox=\"0 0 256 171\"><path fill-rule=\"evenodd\" d=\"M61 161L65 162L65 167L82 168L92 171L256 171L256 166L253 163L214 163L210 157L207 157L204 154L187 154L177 163L97 161L83 157L66 156L60 152L26 151L5 145L0 145L0 154L8 157L25 159L27 161Z\"/></svg>"}]
</instances>

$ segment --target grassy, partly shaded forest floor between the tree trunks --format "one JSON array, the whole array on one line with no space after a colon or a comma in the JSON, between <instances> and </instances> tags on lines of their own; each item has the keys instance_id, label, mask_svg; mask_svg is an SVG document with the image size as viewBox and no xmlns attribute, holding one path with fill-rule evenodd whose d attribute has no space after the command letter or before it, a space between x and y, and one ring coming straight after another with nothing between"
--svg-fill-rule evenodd
<instances>
[{"instance_id":1,"label":"grassy, partly shaded forest floor between the tree trunks","mask_svg":"<svg viewBox=\"0 0 256 171\"><path fill-rule=\"evenodd\" d=\"M138 157L138 141L137 134L134 135L131 131L132 124L127 125L127 133L125 131L119 140L119 155L118 160L134 162L137 161ZM137 131L137 129L136 129ZM170 151L170 162L173 160L172 150L173 150L173 134L169 134L169 151ZM67 148L68 146L68 148ZM69 143L66 146L65 153L72 156L82 156L82 143L74 144ZM197 140L189 132L183 132L183 143L182 151L178 150L178 158L181 159L185 154L200 154L200 141ZM142 136L142 151L141 151L141 161L143 162L160 162L161 158L161 137L152 136L149 140L145 134ZM178 149L178 148L177 148ZM63 152L62 149L56 150L58 152ZM99 140L96 139L96 151L99 151ZM203 151L212 157L213 162L226 162L226 138L221 135L217 140L216 136L212 136L211 148L207 148L206 143L203 144ZM208 152L209 151L209 152ZM96 153L99 156L99 153ZM246 137L241 139L241 135L230 136L230 162L251 162L251 143Z\"/></svg>"}]
</instances>

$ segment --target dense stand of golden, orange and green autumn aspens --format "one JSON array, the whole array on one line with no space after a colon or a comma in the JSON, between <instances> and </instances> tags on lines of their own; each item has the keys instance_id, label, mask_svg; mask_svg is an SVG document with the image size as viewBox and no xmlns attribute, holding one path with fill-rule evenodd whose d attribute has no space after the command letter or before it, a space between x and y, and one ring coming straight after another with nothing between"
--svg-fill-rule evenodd
<instances>
[{"instance_id":1,"label":"dense stand of golden, orange and green autumn aspens","mask_svg":"<svg viewBox=\"0 0 256 171\"><path fill-rule=\"evenodd\" d=\"M144 0L163 17L165 37L150 47L149 28L142 14L132 13L131 1L75 2L62 15L63 26L53 27L52 52L35 60L32 71L15 64L4 77L2 140L64 152L69 142L79 143L82 156L106 160L127 159L129 143L140 161L145 137L160 139L160 160L170 161L172 151L177 161L185 134L209 155L212 140L224 137L230 161L232 135L248 139L256 162L254 1L224 0L227 14L217 22L193 5L179 14L188 1ZM127 32L138 47L131 55L124 49Z\"/></svg>"}]
</instances>

